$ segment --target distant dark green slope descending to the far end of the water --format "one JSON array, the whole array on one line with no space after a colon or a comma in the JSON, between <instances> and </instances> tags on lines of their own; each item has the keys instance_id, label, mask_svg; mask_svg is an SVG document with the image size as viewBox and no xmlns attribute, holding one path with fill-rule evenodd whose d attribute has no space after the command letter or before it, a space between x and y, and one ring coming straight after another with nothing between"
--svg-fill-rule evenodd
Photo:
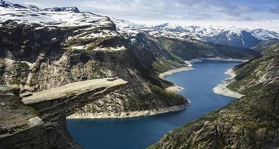
<instances>
[{"instance_id":1,"label":"distant dark green slope descending to the far end of the water","mask_svg":"<svg viewBox=\"0 0 279 149\"><path fill-rule=\"evenodd\" d=\"M178 59L189 60L197 57L231 57L249 59L258 54L246 48L233 48L224 45L193 40L158 37L160 43Z\"/></svg>"}]
</instances>

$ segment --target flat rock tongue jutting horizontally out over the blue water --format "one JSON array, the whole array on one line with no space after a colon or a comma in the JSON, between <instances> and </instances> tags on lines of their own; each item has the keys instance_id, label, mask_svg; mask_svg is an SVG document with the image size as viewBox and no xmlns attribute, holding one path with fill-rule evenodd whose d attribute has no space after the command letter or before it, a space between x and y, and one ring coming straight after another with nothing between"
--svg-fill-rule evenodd
<instances>
[{"instance_id":1,"label":"flat rock tongue jutting horizontally out over the blue water","mask_svg":"<svg viewBox=\"0 0 279 149\"><path fill-rule=\"evenodd\" d=\"M122 79L94 79L69 83L50 90L33 93L22 102L40 112L45 121L75 113L79 108L114 92L127 82Z\"/></svg>"}]
</instances>

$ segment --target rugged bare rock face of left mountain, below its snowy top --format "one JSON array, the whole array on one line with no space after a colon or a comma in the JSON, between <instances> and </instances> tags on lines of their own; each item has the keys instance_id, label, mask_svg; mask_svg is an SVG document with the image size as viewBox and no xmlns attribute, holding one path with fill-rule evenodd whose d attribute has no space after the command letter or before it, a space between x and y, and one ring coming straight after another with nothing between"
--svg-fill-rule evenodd
<instances>
[{"instance_id":1,"label":"rugged bare rock face of left mountain, below its snowy top","mask_svg":"<svg viewBox=\"0 0 279 149\"><path fill-rule=\"evenodd\" d=\"M109 20L108 20L109 21ZM92 26L48 27L7 22L0 29L0 75L2 84L19 84L21 92L39 92L76 81L104 77L121 77L129 83L115 93L82 108L80 113L121 115L133 111L157 110L180 106L163 98L146 100L142 95L154 94L151 85L161 88L172 85L157 77L157 71L181 67L153 37L139 34L124 38L113 22L101 28ZM85 32L108 31L112 36L77 38ZM7 31L11 34L8 34ZM89 34L89 33L88 33ZM18 36L15 36L18 35ZM71 38L69 38L71 37ZM55 39L54 39L55 38ZM75 49L90 44L85 49ZM124 50L96 50L104 47L125 47ZM28 54L30 53L30 54ZM164 64L154 70L154 64ZM185 100L186 104L187 100ZM143 106L133 107L134 103ZM94 117L94 116L93 116Z\"/></svg>"}]
</instances>

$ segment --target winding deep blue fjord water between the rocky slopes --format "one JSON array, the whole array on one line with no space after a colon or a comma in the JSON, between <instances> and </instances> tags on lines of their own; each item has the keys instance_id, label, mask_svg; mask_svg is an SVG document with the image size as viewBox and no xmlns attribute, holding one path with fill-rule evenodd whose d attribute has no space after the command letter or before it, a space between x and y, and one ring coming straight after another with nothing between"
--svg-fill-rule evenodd
<instances>
[{"instance_id":1,"label":"winding deep blue fjord water between the rocky slopes","mask_svg":"<svg viewBox=\"0 0 279 149\"><path fill-rule=\"evenodd\" d=\"M165 133L230 103L233 98L217 95L212 88L229 75L238 62L204 61L193 70L175 73L165 79L185 88L178 92L190 99L186 110L134 118L67 120L72 137L85 148L145 148Z\"/></svg>"}]
</instances>

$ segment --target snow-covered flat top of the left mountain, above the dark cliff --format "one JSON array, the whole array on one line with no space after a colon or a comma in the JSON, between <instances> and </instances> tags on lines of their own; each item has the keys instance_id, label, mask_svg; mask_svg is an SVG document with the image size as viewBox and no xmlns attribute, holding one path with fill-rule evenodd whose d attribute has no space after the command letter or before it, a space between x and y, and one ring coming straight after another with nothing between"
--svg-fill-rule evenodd
<instances>
[{"instance_id":1,"label":"snow-covered flat top of the left mountain, above the dark cliff","mask_svg":"<svg viewBox=\"0 0 279 149\"><path fill-rule=\"evenodd\" d=\"M42 26L93 25L97 27L108 26L112 23L108 17L95 15L89 12L79 12L76 7L38 8L30 10L30 8L34 7L13 4L7 1L1 1L1 4L3 5L1 5L2 8L0 9L0 25L7 20L25 24L36 23Z\"/></svg>"}]
</instances>

